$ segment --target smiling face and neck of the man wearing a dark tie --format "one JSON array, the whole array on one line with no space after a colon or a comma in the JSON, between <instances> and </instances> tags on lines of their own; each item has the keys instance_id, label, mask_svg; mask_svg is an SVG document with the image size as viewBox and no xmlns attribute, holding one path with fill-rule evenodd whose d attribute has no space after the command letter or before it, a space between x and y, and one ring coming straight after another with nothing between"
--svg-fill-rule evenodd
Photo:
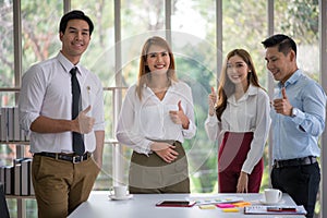
<instances>
[{"instance_id":1,"label":"smiling face and neck of the man wearing a dark tie","mask_svg":"<svg viewBox=\"0 0 327 218\"><path fill-rule=\"evenodd\" d=\"M71 20L68 22L64 33L60 33L62 50L72 63L78 63L81 56L87 49L90 36L89 26L84 20Z\"/></svg>"}]
</instances>

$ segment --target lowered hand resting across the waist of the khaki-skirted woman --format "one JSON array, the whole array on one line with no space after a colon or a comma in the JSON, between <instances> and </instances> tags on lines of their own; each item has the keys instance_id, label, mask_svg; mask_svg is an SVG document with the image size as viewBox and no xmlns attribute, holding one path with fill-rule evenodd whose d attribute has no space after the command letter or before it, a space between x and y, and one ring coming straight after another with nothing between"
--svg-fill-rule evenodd
<instances>
[{"instance_id":1,"label":"lowered hand resting across the waist of the khaki-skirted woman","mask_svg":"<svg viewBox=\"0 0 327 218\"><path fill-rule=\"evenodd\" d=\"M155 142L150 145L153 152L155 152L164 161L172 162L178 158L178 153L174 150L175 146L168 143Z\"/></svg>"}]
</instances>

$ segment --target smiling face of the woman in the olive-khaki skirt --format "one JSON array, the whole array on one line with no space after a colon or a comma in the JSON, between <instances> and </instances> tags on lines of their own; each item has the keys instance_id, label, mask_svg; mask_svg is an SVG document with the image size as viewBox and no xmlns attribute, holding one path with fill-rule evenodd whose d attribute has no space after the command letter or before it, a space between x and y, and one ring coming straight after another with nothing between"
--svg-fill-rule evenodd
<instances>
[{"instance_id":1,"label":"smiling face of the woman in the olive-khaki skirt","mask_svg":"<svg viewBox=\"0 0 327 218\"><path fill-rule=\"evenodd\" d=\"M146 56L146 65L152 73L167 73L170 66L170 57L164 47L152 45Z\"/></svg>"}]
</instances>

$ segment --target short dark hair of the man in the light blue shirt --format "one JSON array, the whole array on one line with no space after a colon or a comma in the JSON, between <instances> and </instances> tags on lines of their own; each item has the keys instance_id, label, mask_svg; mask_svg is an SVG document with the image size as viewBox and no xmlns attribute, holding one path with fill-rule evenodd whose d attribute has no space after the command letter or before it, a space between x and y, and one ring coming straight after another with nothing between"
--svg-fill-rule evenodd
<instances>
[{"instance_id":1,"label":"short dark hair of the man in the light blue shirt","mask_svg":"<svg viewBox=\"0 0 327 218\"><path fill-rule=\"evenodd\" d=\"M266 40L262 41L262 44L265 48L278 46L278 51L282 52L283 55L288 55L291 49L296 55L295 41L291 37L283 34L272 35Z\"/></svg>"}]
</instances>

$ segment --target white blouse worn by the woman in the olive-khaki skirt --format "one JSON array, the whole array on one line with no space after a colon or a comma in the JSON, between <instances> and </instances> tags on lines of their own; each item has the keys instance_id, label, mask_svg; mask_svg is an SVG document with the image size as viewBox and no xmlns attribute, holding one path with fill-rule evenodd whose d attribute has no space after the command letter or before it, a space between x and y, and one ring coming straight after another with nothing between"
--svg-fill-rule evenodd
<instances>
[{"instance_id":1,"label":"white blouse worn by the woman in the olive-khaki skirt","mask_svg":"<svg viewBox=\"0 0 327 218\"><path fill-rule=\"evenodd\" d=\"M189 129L175 124L169 117L170 110L178 110L181 105L190 120ZM183 82L172 83L165 98L160 100L155 93L144 86L142 100L136 95L136 85L126 93L119 116L116 136L118 141L132 147L136 153L150 154L153 141L179 141L195 135L193 97L189 85Z\"/></svg>"}]
</instances>

